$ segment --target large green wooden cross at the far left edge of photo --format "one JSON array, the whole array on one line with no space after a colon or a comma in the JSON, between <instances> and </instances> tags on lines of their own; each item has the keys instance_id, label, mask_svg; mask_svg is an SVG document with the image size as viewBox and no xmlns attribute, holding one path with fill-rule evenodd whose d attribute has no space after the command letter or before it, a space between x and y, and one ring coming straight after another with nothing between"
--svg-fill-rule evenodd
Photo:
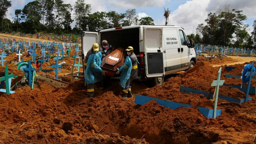
<instances>
[{"instance_id":1,"label":"large green wooden cross at the far left edge of photo","mask_svg":"<svg viewBox=\"0 0 256 144\"><path fill-rule=\"evenodd\" d=\"M0 81L5 81L6 89L0 89L0 92L4 92L9 95L15 92L15 91L11 91L11 81L12 81L12 78L15 77L15 75L14 74L8 75L8 65L6 65L4 69L4 74L5 76L1 77Z\"/></svg>"}]
</instances>

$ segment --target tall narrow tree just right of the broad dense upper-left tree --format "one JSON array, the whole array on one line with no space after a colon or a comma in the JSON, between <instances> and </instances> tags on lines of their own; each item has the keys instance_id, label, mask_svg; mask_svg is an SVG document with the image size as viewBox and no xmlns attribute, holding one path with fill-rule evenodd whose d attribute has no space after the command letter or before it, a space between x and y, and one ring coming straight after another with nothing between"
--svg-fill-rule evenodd
<instances>
[{"instance_id":1,"label":"tall narrow tree just right of the broad dense upper-left tree","mask_svg":"<svg viewBox=\"0 0 256 144\"><path fill-rule=\"evenodd\" d=\"M52 31L56 25L55 17L53 14L54 0L46 0L45 3L45 25L48 27L49 31Z\"/></svg>"}]
</instances>

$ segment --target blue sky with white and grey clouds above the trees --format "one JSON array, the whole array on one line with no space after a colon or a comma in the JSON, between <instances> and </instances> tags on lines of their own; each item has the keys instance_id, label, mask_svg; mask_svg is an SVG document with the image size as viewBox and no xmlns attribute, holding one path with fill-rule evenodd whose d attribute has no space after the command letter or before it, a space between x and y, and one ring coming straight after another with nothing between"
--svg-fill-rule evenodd
<instances>
[{"instance_id":1,"label":"blue sky with white and grey clouds above the trees","mask_svg":"<svg viewBox=\"0 0 256 144\"><path fill-rule=\"evenodd\" d=\"M22 9L33 0L10 1L12 6L6 15L8 19L12 19L15 9ZM75 0L63 1L71 5L75 3ZM195 34L198 24L206 24L204 20L209 12L216 12L226 5L229 5L230 9L243 10L243 14L247 16L244 24L249 24L249 33L252 32L253 21L256 20L255 0L85 0L85 3L91 4L92 13L110 10L125 13L127 9L135 8L139 18L150 16L155 25L165 25L164 8L169 8L171 13L167 25L183 27L187 35ZM75 22L71 24L72 27L74 25Z\"/></svg>"}]
</instances>

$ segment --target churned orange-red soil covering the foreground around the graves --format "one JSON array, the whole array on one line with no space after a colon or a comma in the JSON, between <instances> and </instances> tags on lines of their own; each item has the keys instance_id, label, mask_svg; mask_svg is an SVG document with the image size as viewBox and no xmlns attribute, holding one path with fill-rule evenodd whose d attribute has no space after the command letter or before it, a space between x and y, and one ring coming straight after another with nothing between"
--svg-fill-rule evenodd
<instances>
[{"instance_id":1,"label":"churned orange-red soil covering the foreground around the graves","mask_svg":"<svg viewBox=\"0 0 256 144\"><path fill-rule=\"evenodd\" d=\"M73 64L71 58L65 61ZM22 73L13 64L8 67L9 73ZM0 68L3 72L4 67ZM68 66L65 69L70 72ZM54 88L37 81L33 90L23 86L11 95L0 93L3 116L0 143L253 144L255 95L252 101L243 104L219 99L217 108L222 109L222 114L208 119L196 106L212 108L213 102L203 95L179 92L180 85L213 92L210 85L218 69L209 66L209 61L199 60L194 68L182 74L166 76L161 87L150 88L139 81L132 83L133 94L193 105L178 109L164 108L154 100L139 106L134 104L134 97L122 99L118 81L112 81L104 90L96 88L94 98L87 96L84 80L77 80L67 88ZM48 75L54 77L54 74ZM233 97L240 94L236 93L239 90L221 87L219 94Z\"/></svg>"}]
</instances>

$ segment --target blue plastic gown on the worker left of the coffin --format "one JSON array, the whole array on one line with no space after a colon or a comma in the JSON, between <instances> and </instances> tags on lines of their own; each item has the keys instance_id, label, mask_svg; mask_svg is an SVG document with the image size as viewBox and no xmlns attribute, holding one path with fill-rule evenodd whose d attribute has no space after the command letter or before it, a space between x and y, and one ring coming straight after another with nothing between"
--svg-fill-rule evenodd
<instances>
[{"instance_id":1,"label":"blue plastic gown on the worker left of the coffin","mask_svg":"<svg viewBox=\"0 0 256 144\"><path fill-rule=\"evenodd\" d=\"M87 60L87 66L85 69L85 81L87 84L96 83L103 80L101 74L101 52L91 54Z\"/></svg>"}]
</instances>

